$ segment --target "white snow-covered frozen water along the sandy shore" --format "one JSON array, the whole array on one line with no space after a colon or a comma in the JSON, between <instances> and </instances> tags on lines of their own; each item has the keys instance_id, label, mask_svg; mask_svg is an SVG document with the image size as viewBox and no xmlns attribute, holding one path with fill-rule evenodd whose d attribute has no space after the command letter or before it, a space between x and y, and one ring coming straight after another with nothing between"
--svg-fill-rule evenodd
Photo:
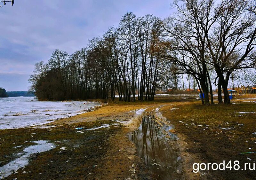
<instances>
[{"instance_id":1,"label":"white snow-covered frozen water along the sandy shore","mask_svg":"<svg viewBox=\"0 0 256 180\"><path fill-rule=\"evenodd\" d=\"M38 101L35 97L0 98L0 129L46 124L85 113L96 106L100 106L100 103Z\"/></svg>"}]
</instances>

